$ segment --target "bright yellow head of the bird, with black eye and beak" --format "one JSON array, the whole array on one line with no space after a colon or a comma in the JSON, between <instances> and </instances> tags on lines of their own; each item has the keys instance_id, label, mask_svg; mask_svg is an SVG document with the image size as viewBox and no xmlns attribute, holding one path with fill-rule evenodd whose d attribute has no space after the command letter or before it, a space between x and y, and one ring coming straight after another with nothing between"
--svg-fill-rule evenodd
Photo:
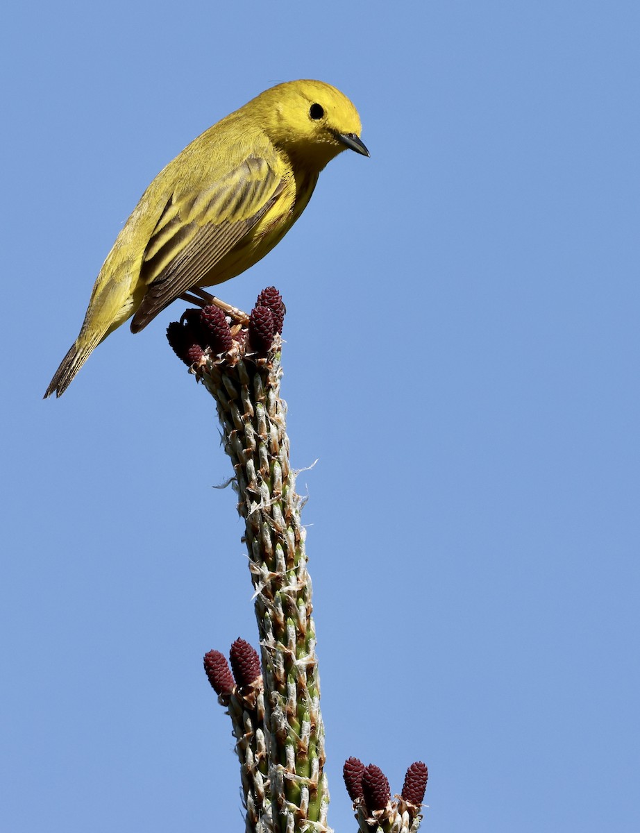
<instances>
[{"instance_id":1,"label":"bright yellow head of the bird, with black eye and beak","mask_svg":"<svg viewBox=\"0 0 640 833\"><path fill-rule=\"evenodd\" d=\"M289 81L266 90L253 102L273 144L318 171L347 148L369 156L360 139L358 110L331 84Z\"/></svg>"}]
</instances>

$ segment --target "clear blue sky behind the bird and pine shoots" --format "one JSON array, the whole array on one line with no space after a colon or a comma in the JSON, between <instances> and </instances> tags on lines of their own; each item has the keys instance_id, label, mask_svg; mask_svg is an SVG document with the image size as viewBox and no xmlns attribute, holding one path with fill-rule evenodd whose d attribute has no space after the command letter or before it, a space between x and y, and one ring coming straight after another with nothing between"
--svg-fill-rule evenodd
<instances>
[{"instance_id":1,"label":"clear blue sky behind the bird and pine shoots","mask_svg":"<svg viewBox=\"0 0 640 833\"><path fill-rule=\"evenodd\" d=\"M241 830L201 657L255 644L175 304L42 402L163 165L273 83L372 157L220 294L288 307L329 821L348 756L423 829L637 831L637 2L24 2L4 12L3 827Z\"/></svg>"}]
</instances>

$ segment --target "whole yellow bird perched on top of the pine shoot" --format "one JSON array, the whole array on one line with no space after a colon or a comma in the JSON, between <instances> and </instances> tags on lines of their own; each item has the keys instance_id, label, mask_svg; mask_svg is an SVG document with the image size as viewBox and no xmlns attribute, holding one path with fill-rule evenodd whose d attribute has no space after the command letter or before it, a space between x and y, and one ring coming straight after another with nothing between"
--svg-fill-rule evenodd
<instances>
[{"instance_id":1,"label":"whole yellow bird perched on top of the pine shoot","mask_svg":"<svg viewBox=\"0 0 640 833\"><path fill-rule=\"evenodd\" d=\"M358 111L322 81L278 84L214 124L158 173L93 286L82 329L45 398L133 316L139 332L194 287L228 281L280 242L323 167L360 140Z\"/></svg>"}]
</instances>

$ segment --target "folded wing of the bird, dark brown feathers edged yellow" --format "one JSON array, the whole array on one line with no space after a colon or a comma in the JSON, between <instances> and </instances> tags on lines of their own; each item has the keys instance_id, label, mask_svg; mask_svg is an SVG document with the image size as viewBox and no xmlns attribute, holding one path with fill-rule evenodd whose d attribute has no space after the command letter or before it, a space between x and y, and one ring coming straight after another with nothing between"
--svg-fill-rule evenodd
<instances>
[{"instance_id":1,"label":"folded wing of the bird, dark brown feathers edged yellow","mask_svg":"<svg viewBox=\"0 0 640 833\"><path fill-rule=\"evenodd\" d=\"M268 212L283 187L273 168L262 157L248 157L212 186L169 197L143 255L140 280L148 289L132 332L198 286Z\"/></svg>"}]
</instances>

